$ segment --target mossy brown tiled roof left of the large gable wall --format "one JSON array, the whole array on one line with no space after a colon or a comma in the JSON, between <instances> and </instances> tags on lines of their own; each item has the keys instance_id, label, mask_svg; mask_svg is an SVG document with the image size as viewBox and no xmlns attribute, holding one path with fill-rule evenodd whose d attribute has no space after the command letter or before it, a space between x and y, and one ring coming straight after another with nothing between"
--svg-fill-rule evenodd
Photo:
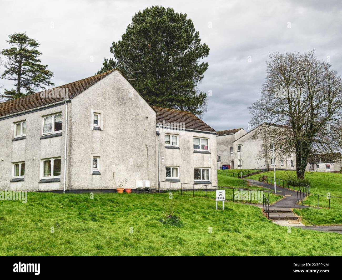
<instances>
[{"instance_id":1,"label":"mossy brown tiled roof left of the large gable wall","mask_svg":"<svg viewBox=\"0 0 342 280\"><path fill-rule=\"evenodd\" d=\"M115 69L102 73L100 75L91 76L86 79L82 79L76 82L68 83L61 86L56 86L54 89L68 89L69 91L69 99L74 98L79 95L81 92L88 89L93 84L97 83ZM14 113L18 113L21 111L34 109L40 106L49 105L58 101L62 101L63 97L40 97L41 92L37 92L34 94L30 94L18 99L14 99L11 101L0 103L0 117L6 116Z\"/></svg>"}]
</instances>

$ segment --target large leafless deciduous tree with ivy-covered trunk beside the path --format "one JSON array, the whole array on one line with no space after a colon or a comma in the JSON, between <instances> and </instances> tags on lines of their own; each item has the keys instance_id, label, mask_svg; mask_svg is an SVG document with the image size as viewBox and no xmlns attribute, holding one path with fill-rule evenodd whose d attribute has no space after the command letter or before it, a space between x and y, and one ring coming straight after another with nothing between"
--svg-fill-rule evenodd
<instances>
[{"instance_id":1,"label":"large leafless deciduous tree with ivy-covered trunk beside the path","mask_svg":"<svg viewBox=\"0 0 342 280\"><path fill-rule=\"evenodd\" d=\"M297 177L303 179L311 154L341 152L341 77L330 63L317 59L314 50L274 52L269 58L261 98L249 107L251 125L280 125L262 125L255 133L265 134L268 142L274 139L275 147L282 145L278 152L284 155L295 151Z\"/></svg>"}]
</instances>

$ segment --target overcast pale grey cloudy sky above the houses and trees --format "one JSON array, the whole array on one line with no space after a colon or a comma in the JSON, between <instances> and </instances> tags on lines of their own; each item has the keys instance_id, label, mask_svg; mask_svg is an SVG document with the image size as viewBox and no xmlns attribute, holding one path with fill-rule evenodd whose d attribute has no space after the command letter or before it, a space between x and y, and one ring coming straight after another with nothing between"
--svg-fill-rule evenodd
<instances>
[{"instance_id":1,"label":"overcast pale grey cloudy sky above the houses and trees","mask_svg":"<svg viewBox=\"0 0 342 280\"><path fill-rule=\"evenodd\" d=\"M52 81L63 85L100 69L132 16L152 5L186 13L209 45L209 68L198 86L212 92L203 120L215 130L247 128L247 107L260 96L269 52L315 49L317 57L329 56L332 68L342 74L340 0L1 0L0 49L8 48L9 34L27 31L40 42L41 60L54 73ZM12 88L11 82L0 80L3 84Z\"/></svg>"}]
</instances>

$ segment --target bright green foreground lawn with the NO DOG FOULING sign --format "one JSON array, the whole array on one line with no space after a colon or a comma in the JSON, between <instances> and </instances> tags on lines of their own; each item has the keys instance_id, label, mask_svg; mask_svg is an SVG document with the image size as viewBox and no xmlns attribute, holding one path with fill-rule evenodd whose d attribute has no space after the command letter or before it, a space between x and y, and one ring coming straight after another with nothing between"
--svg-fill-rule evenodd
<instances>
[{"instance_id":1,"label":"bright green foreground lawn with the NO DOG FOULING sign","mask_svg":"<svg viewBox=\"0 0 342 280\"><path fill-rule=\"evenodd\" d=\"M342 255L340 234L288 232L255 206L215 211L212 199L168 197L29 192L27 203L0 201L0 255ZM165 224L169 203L178 226Z\"/></svg>"}]
</instances>

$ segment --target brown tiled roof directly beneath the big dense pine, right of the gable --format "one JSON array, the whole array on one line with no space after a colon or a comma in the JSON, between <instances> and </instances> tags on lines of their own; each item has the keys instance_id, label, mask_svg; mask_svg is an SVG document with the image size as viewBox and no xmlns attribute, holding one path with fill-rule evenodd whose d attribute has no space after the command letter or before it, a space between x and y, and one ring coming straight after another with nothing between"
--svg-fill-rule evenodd
<instances>
[{"instance_id":1,"label":"brown tiled roof directly beneath the big dense pine, right of the gable","mask_svg":"<svg viewBox=\"0 0 342 280\"><path fill-rule=\"evenodd\" d=\"M157 123L162 124L163 121L168 123L180 122L185 123L185 129L216 132L208 124L206 124L205 122L197 118L194 114L188 111L180 111L157 106L152 106L152 108L155 109L155 111L157 112Z\"/></svg>"}]
</instances>

